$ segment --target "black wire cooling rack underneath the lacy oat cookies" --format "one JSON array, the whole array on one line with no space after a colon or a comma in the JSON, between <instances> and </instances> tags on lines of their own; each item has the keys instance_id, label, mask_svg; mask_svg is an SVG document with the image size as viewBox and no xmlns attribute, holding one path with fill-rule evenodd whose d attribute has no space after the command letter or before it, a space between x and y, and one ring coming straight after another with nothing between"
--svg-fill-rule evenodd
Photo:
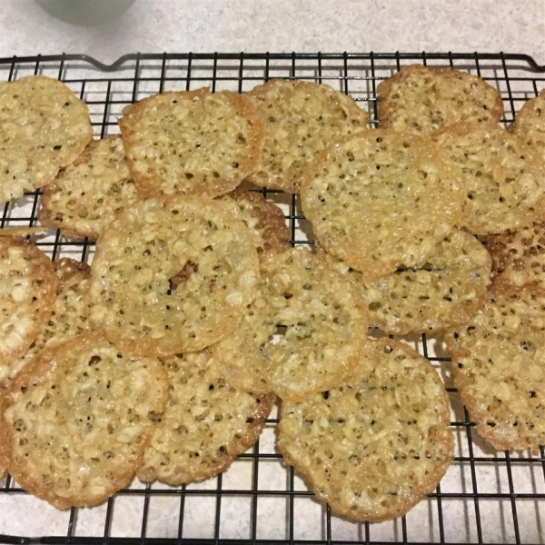
<instances>
[{"instance_id":1,"label":"black wire cooling rack underneath the lacy oat cookies","mask_svg":"<svg viewBox=\"0 0 545 545\"><path fill-rule=\"evenodd\" d=\"M352 94L378 126L376 86L406 64L451 66L500 90L502 123L545 86L545 66L523 54L131 54L111 65L84 55L0 59L0 81L28 74L58 77L89 104L96 137L118 133L124 105L167 90L210 86L246 92L272 77L327 83ZM263 192L282 207L292 244L312 243L295 196ZM36 223L40 192L4 206L0 227ZM51 230L36 243L53 259L91 262L94 243ZM274 449L276 413L261 440L215 479L172 488L134 481L102 506L56 511L0 481L0 542L50 544L219 543L543 543L545 451L499 452L481 440L452 387L441 339L404 337L429 358L451 398L456 458L427 500L380 524L332 515Z\"/></svg>"}]
</instances>

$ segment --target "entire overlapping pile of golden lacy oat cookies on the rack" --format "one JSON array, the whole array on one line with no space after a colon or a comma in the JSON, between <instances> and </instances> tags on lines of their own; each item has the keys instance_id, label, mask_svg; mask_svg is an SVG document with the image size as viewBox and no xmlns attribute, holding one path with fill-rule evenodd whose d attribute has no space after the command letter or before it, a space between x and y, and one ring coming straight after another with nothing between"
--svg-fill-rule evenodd
<instances>
[{"instance_id":1,"label":"entire overlapping pile of golden lacy oat cookies on the rack","mask_svg":"<svg viewBox=\"0 0 545 545\"><path fill-rule=\"evenodd\" d=\"M96 241L89 266L0 237L0 473L58 509L203 480L278 399L318 499L398 517L454 451L439 375L387 337L414 332L445 332L492 445L545 442L545 94L513 132L470 74L409 66L378 94L371 130L322 84L168 92L92 140L64 84L0 86L1 202L43 188L40 222ZM313 252L255 187L300 193Z\"/></svg>"}]
</instances>

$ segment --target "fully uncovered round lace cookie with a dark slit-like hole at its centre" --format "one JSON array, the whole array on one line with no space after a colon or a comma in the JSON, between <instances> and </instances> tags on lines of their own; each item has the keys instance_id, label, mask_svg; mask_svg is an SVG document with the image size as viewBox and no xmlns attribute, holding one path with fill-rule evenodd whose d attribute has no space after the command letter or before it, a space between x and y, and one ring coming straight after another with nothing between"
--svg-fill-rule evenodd
<instances>
[{"instance_id":1,"label":"fully uncovered round lace cookie with a dark slit-like hole at its centre","mask_svg":"<svg viewBox=\"0 0 545 545\"><path fill-rule=\"evenodd\" d=\"M233 331L259 282L255 241L234 203L136 202L96 245L91 319L127 353L195 352Z\"/></svg>"}]
</instances>

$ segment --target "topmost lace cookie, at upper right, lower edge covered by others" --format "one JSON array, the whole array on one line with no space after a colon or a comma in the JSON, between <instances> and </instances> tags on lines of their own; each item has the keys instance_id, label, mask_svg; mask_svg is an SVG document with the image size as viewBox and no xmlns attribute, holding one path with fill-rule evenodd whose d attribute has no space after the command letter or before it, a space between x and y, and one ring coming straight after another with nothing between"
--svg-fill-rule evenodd
<instances>
[{"instance_id":1,"label":"topmost lace cookie, at upper right, lower edge covered by others","mask_svg":"<svg viewBox=\"0 0 545 545\"><path fill-rule=\"evenodd\" d=\"M381 128L427 136L460 121L499 122L500 92L480 77L412 64L381 82Z\"/></svg>"}]
</instances>

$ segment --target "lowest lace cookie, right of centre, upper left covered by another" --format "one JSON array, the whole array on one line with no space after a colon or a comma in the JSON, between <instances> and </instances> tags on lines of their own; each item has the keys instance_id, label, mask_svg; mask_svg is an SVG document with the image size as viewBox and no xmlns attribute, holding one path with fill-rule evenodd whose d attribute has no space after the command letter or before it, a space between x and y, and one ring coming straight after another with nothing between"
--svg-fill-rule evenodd
<instances>
[{"instance_id":1,"label":"lowest lace cookie, right of centre, upper left covered by another","mask_svg":"<svg viewBox=\"0 0 545 545\"><path fill-rule=\"evenodd\" d=\"M278 449L319 500L352 520L406 513L454 455L447 392L430 362L401 342L370 341L337 388L282 403Z\"/></svg>"}]
</instances>

